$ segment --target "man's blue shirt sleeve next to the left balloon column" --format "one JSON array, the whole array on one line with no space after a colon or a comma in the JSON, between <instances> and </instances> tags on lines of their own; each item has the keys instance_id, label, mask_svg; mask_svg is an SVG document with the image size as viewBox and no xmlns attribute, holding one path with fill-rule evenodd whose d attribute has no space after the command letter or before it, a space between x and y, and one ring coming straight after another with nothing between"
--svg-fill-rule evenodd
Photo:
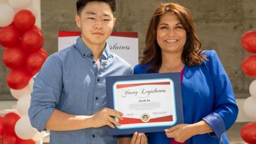
<instances>
[{"instance_id":1,"label":"man's blue shirt sleeve next to the left balloon column","mask_svg":"<svg viewBox=\"0 0 256 144\"><path fill-rule=\"evenodd\" d=\"M52 54L34 78L29 119L38 131L46 131L45 125L59 103L62 74L62 63L56 54Z\"/></svg>"}]
</instances>

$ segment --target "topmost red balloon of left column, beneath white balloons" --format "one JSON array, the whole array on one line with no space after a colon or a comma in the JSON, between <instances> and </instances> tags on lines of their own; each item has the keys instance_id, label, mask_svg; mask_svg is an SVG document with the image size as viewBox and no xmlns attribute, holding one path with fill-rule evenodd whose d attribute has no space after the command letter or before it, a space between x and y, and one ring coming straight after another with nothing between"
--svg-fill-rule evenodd
<instances>
[{"instance_id":1,"label":"topmost red balloon of left column, beneath white balloons","mask_svg":"<svg viewBox=\"0 0 256 144\"><path fill-rule=\"evenodd\" d=\"M14 25L16 26L16 28L22 31L32 29L33 25L35 25L35 22L35 15L27 9L19 11L14 16Z\"/></svg>"}]
</instances>

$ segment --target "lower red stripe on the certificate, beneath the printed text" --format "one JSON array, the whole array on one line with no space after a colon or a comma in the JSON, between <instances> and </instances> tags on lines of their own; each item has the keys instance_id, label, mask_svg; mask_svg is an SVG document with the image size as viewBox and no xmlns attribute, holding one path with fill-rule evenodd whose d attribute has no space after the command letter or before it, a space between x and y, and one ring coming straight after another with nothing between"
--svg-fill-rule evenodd
<instances>
[{"instance_id":1,"label":"lower red stripe on the certificate, beneath the printed text","mask_svg":"<svg viewBox=\"0 0 256 144\"><path fill-rule=\"evenodd\" d=\"M152 118L148 122L171 122L171 121L173 121L173 115L163 116L159 118ZM123 121L119 119L119 123L123 125L123 124L140 124L140 123L146 123L146 122L143 122L142 119L139 119L139 118L123 118Z\"/></svg>"}]
</instances>

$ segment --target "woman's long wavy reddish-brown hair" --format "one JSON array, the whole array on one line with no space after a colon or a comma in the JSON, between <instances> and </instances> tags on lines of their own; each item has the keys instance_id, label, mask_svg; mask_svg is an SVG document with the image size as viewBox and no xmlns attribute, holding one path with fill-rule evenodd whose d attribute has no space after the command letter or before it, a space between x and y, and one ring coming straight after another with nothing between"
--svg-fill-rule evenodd
<instances>
[{"instance_id":1,"label":"woman's long wavy reddish-brown hair","mask_svg":"<svg viewBox=\"0 0 256 144\"><path fill-rule=\"evenodd\" d=\"M178 4L161 3L150 20L147 28L143 56L140 57L140 59L142 59L140 62L142 65L150 64L147 71L158 71L161 67L161 49L156 40L156 31L161 16L169 12L178 16L181 25L183 25L183 28L187 33L186 43L184 44L181 56L182 62L187 66L200 66L203 63L203 60L208 60L200 50L201 42L196 37L196 30L190 11Z\"/></svg>"}]
</instances>

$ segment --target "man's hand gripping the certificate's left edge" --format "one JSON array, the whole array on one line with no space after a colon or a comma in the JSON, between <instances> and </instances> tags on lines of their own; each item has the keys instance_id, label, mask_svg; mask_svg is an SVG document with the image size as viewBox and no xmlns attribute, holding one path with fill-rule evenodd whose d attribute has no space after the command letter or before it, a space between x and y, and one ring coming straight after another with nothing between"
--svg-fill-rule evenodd
<instances>
[{"instance_id":1,"label":"man's hand gripping the certificate's left edge","mask_svg":"<svg viewBox=\"0 0 256 144\"><path fill-rule=\"evenodd\" d=\"M118 119L123 120L122 115L123 115L122 112L116 111L114 109L103 108L102 110L100 110L99 112L97 112L95 115L92 116L93 128L100 128L105 125L109 125L111 128L115 128L114 125L120 126L121 124L119 124L111 116L114 116Z\"/></svg>"}]
</instances>

